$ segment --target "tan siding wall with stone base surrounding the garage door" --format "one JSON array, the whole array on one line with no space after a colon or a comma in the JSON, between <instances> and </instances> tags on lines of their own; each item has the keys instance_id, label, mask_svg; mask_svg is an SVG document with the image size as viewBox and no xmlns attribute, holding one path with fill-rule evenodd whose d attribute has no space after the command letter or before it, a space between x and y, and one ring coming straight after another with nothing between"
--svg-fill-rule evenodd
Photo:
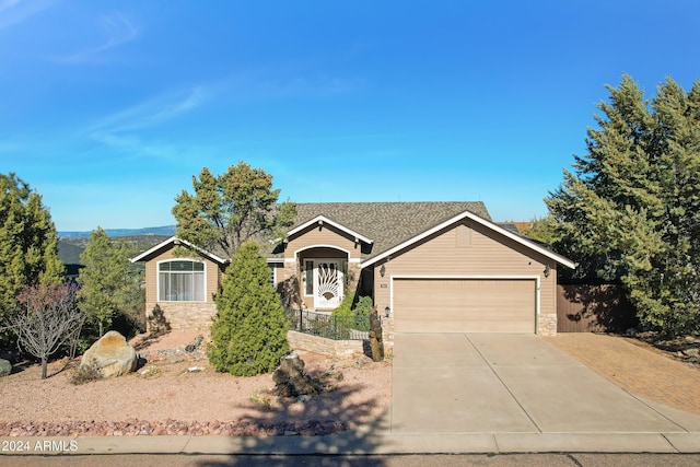
<instances>
[{"instance_id":1,"label":"tan siding wall with stone base surrounding the garage door","mask_svg":"<svg viewBox=\"0 0 700 467\"><path fill-rule=\"evenodd\" d=\"M380 311L392 306L393 276L539 277L537 332L557 331L557 264L480 224L464 222L374 265L374 297ZM549 277L545 277L549 264ZM384 277L380 273L385 267Z\"/></svg>"}]
</instances>

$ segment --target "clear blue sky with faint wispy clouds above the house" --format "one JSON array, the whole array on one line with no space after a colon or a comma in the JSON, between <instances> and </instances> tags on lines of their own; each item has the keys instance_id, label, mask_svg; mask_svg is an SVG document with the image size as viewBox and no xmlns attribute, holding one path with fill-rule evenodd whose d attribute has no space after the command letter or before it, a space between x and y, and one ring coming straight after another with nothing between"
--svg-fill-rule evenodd
<instances>
[{"instance_id":1,"label":"clear blue sky with faint wispy clouds above the house","mask_svg":"<svg viewBox=\"0 0 700 467\"><path fill-rule=\"evenodd\" d=\"M546 214L606 83L700 78L700 1L0 0L0 173L59 231L173 224L202 166L298 202Z\"/></svg>"}]
</instances>

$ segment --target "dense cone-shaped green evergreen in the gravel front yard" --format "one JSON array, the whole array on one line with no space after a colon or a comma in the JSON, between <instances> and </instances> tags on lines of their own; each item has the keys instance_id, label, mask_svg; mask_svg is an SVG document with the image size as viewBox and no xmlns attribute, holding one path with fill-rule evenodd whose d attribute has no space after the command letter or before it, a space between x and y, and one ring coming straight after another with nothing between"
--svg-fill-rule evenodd
<instances>
[{"instance_id":1,"label":"dense cone-shaped green evergreen in the gravel front yard","mask_svg":"<svg viewBox=\"0 0 700 467\"><path fill-rule=\"evenodd\" d=\"M217 310L208 350L217 371L236 376L273 371L289 351L289 323L255 242L244 243L226 268Z\"/></svg>"}]
</instances>

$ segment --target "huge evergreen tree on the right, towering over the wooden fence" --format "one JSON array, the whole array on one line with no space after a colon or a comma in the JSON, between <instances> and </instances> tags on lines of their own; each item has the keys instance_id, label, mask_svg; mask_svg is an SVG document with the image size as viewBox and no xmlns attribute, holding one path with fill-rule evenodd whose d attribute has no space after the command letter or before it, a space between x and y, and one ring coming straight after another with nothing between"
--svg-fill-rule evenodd
<instances>
[{"instance_id":1,"label":"huge evergreen tree on the right, towering over the wooden fence","mask_svg":"<svg viewBox=\"0 0 700 467\"><path fill-rule=\"evenodd\" d=\"M584 271L621 280L643 324L698 330L700 81L686 93L667 79L651 101L628 75L607 87L588 154L546 199L556 247Z\"/></svg>"}]
</instances>

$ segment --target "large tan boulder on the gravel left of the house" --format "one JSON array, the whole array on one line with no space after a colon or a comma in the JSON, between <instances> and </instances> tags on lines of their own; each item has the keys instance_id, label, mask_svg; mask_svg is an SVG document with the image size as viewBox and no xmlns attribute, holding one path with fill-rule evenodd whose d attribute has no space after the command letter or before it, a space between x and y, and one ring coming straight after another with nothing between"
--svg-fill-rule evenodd
<instances>
[{"instance_id":1,"label":"large tan boulder on the gravel left of the house","mask_svg":"<svg viewBox=\"0 0 700 467\"><path fill-rule=\"evenodd\" d=\"M80 366L92 365L103 377L112 377L135 371L137 362L133 347L121 334L110 330L88 349L80 360Z\"/></svg>"}]
</instances>

